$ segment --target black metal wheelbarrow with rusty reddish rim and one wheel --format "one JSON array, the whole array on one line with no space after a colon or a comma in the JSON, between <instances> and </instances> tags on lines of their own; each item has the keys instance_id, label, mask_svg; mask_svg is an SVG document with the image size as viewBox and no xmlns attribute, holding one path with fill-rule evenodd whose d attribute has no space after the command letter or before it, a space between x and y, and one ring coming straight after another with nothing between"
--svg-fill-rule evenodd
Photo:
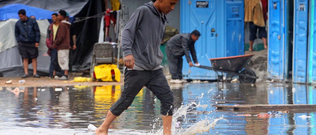
<instances>
[{"instance_id":1,"label":"black metal wheelbarrow with rusty reddish rim and one wheel","mask_svg":"<svg viewBox=\"0 0 316 135\"><path fill-rule=\"evenodd\" d=\"M254 71L245 68L253 55L254 54L246 54L231 57L212 58L210 59L212 65L211 67L204 65L195 67L214 70L216 71L217 78L217 72L228 73L227 78L231 76L229 82L234 76L239 76L240 83L255 83L256 79L258 79L258 76L256 76ZM225 82L226 81L228 81L228 79L226 79Z\"/></svg>"}]
</instances>

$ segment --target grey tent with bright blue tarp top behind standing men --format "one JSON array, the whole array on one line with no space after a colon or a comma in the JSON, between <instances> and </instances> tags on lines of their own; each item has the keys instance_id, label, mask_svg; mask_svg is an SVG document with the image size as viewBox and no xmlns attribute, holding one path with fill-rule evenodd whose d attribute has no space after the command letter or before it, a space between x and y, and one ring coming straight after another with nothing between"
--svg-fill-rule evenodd
<instances>
[{"instance_id":1,"label":"grey tent with bright blue tarp top behind standing men","mask_svg":"<svg viewBox=\"0 0 316 135\"><path fill-rule=\"evenodd\" d=\"M19 54L18 43L15 39L15 23L18 21L18 10L25 9L27 16L34 15L40 28L39 57L37 70L48 73L50 57L47 55L46 32L49 26L47 19L54 13L41 8L23 4L11 4L0 8L0 76L21 76L24 74L22 57ZM32 69L29 65L29 69Z\"/></svg>"}]
</instances>

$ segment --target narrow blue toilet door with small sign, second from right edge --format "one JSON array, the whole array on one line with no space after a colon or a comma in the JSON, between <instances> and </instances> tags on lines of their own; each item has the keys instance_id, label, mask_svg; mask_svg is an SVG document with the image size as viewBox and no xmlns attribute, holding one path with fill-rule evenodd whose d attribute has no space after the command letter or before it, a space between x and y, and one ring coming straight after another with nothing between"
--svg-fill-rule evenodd
<instances>
[{"instance_id":1,"label":"narrow blue toilet door with small sign, second from right edge","mask_svg":"<svg viewBox=\"0 0 316 135\"><path fill-rule=\"evenodd\" d=\"M294 43L293 76L294 83L306 83L307 78L307 32L308 0L294 2Z\"/></svg>"}]
</instances>

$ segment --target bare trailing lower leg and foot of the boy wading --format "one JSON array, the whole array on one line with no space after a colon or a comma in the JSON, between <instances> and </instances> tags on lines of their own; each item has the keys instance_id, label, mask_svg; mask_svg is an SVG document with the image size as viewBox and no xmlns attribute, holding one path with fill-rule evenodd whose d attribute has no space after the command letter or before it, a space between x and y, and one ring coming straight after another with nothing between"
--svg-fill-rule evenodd
<instances>
[{"instance_id":1,"label":"bare trailing lower leg and foot of the boy wading","mask_svg":"<svg viewBox=\"0 0 316 135\"><path fill-rule=\"evenodd\" d=\"M95 130L95 135L107 135L107 131L109 130L109 127L111 123L115 120L117 116L113 115L111 111L109 111L105 117L105 120L103 121L102 125ZM171 127L171 123L170 123Z\"/></svg>"}]
</instances>

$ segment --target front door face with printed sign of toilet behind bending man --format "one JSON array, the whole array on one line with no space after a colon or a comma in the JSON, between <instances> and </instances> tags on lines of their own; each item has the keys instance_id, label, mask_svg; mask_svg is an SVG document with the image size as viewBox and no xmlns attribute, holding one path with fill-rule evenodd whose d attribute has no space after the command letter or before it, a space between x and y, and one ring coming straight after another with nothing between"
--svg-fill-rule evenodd
<instances>
[{"instance_id":1,"label":"front door face with printed sign of toilet behind bending man","mask_svg":"<svg viewBox=\"0 0 316 135\"><path fill-rule=\"evenodd\" d=\"M197 61L201 65L210 66L210 58L223 56L224 45L217 42L218 25L222 19L216 8L219 6L217 0L181 0L180 1L180 33L191 33L198 30L201 33L195 42ZM221 16L222 17L222 16ZM193 61L192 61L193 62ZM185 56L183 57L183 78L184 79L205 79L215 80L216 74L212 70L189 67Z\"/></svg>"}]
</instances>

